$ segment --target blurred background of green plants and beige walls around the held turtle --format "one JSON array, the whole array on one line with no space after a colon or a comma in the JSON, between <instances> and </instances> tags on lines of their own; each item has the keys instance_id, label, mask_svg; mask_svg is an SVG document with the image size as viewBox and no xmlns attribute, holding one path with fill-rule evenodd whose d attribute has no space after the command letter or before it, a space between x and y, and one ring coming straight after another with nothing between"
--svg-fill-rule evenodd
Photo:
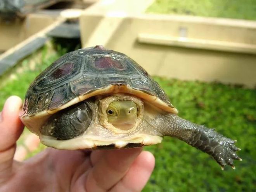
<instances>
[{"instance_id":1,"label":"blurred background of green plants and beige walls around the held turtle","mask_svg":"<svg viewBox=\"0 0 256 192\"><path fill-rule=\"evenodd\" d=\"M236 170L175 138L145 147L144 192L256 191L256 0L0 0L0 111L61 55L104 45L142 65L182 118L237 140ZM25 129L17 160L46 147Z\"/></svg>"}]
</instances>

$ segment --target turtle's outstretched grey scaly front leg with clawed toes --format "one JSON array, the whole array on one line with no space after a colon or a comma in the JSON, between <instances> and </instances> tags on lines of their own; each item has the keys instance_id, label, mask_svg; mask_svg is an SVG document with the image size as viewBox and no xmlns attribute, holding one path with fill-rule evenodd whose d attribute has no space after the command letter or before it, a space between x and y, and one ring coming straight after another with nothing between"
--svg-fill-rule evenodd
<instances>
[{"instance_id":1,"label":"turtle's outstretched grey scaly front leg with clawed toes","mask_svg":"<svg viewBox=\"0 0 256 192\"><path fill-rule=\"evenodd\" d=\"M224 137L214 131L214 129L206 128L203 125L196 125L175 114L164 114L151 120L154 121L151 121L151 123L154 123L157 131L163 136L177 137L187 144L213 156L216 162L220 164L222 170L226 164L235 169L234 159L242 161L236 154L236 151L240 150L235 146L236 141Z\"/></svg>"}]
</instances>

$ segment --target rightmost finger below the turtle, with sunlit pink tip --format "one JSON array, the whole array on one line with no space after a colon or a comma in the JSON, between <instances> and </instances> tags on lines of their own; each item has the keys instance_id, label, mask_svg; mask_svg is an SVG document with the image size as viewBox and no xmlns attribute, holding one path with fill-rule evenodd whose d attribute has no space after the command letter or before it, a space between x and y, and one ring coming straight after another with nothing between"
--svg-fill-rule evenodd
<instances>
[{"instance_id":1,"label":"rightmost finger below the turtle, with sunlit pink tip","mask_svg":"<svg viewBox=\"0 0 256 192\"><path fill-rule=\"evenodd\" d=\"M110 192L139 192L141 191L154 169L155 158L152 153L143 151L133 162L131 168Z\"/></svg>"}]
</instances>

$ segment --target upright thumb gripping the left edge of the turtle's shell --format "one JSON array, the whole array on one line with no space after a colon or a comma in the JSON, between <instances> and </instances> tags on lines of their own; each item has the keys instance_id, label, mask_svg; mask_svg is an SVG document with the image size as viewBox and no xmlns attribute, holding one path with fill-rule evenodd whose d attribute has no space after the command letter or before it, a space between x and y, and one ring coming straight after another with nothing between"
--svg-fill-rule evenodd
<instances>
[{"instance_id":1,"label":"upright thumb gripping the left edge of the turtle's shell","mask_svg":"<svg viewBox=\"0 0 256 192\"><path fill-rule=\"evenodd\" d=\"M0 184L12 175L16 141L24 128L19 119L21 105L19 97L9 97L0 114Z\"/></svg>"}]
</instances>

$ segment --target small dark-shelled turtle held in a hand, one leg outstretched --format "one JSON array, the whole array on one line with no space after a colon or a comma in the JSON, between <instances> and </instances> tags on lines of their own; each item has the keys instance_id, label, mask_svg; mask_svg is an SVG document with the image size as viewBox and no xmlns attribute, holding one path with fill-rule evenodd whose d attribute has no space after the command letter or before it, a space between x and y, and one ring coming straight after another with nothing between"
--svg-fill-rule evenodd
<instances>
[{"instance_id":1,"label":"small dark-shelled turtle held in a hand, one leg outstretched","mask_svg":"<svg viewBox=\"0 0 256 192\"><path fill-rule=\"evenodd\" d=\"M223 169L242 160L235 140L178 115L159 84L127 55L101 45L69 52L29 86L21 121L55 149L142 147L176 137Z\"/></svg>"}]
</instances>

